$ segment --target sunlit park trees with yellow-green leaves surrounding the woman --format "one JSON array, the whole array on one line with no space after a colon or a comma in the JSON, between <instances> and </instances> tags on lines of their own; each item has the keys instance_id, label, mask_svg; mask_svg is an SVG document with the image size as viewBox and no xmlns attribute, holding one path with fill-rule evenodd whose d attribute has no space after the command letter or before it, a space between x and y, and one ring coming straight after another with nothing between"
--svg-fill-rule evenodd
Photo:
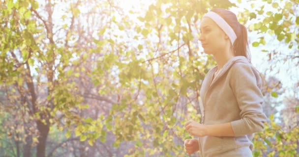
<instances>
[{"instance_id":1,"label":"sunlit park trees with yellow-green leaves surrounding the woman","mask_svg":"<svg viewBox=\"0 0 299 157\"><path fill-rule=\"evenodd\" d=\"M265 80L254 157L299 157L299 0L0 0L0 157L187 156L214 7Z\"/></svg>"}]
</instances>

